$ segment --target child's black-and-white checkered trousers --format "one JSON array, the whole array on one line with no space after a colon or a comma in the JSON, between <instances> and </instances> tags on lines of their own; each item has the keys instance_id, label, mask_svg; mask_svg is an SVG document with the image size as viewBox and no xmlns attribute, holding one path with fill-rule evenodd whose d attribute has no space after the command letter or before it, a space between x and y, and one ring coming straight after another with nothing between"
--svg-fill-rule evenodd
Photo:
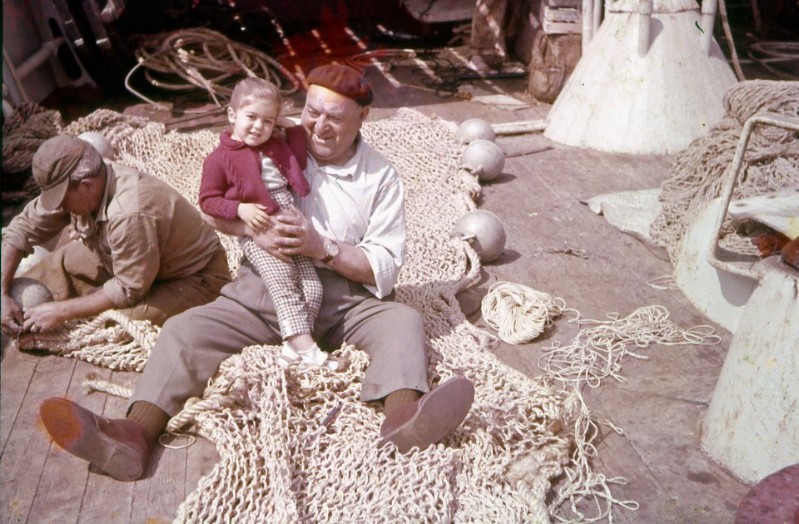
<instances>
[{"instance_id":1,"label":"child's black-and-white checkered trousers","mask_svg":"<svg viewBox=\"0 0 799 524\"><path fill-rule=\"evenodd\" d=\"M272 190L270 195L281 208L293 204L288 189ZM258 247L249 237L242 237L241 249L274 301L283 339L313 333L322 303L322 284L311 259L294 256L291 262L283 262Z\"/></svg>"}]
</instances>

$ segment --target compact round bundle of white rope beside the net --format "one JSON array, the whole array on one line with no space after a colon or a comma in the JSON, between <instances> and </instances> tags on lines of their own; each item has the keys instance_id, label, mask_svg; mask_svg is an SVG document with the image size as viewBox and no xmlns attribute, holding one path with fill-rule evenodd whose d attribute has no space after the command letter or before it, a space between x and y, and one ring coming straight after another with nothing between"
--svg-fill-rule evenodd
<instances>
[{"instance_id":1,"label":"compact round bundle of white rope beside the net","mask_svg":"<svg viewBox=\"0 0 799 524\"><path fill-rule=\"evenodd\" d=\"M500 339L523 344L538 337L566 307L562 298L553 298L522 284L497 282L482 302L483 318Z\"/></svg>"}]
</instances>

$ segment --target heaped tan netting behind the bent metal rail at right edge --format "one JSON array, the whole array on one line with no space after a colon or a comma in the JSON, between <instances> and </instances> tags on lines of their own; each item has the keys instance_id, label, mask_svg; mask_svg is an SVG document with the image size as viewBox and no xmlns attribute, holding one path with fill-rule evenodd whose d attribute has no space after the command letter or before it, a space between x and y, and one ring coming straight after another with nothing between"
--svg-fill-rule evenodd
<instances>
[{"instance_id":1,"label":"heaped tan netting behind the bent metal rail at right edge","mask_svg":"<svg viewBox=\"0 0 799 524\"><path fill-rule=\"evenodd\" d=\"M671 177L661 186L662 210L650 227L659 246L674 258L685 232L708 202L721 196L746 120L761 112L799 117L799 82L750 80L732 86L724 96L725 117L706 136L694 140L678 156ZM799 137L772 126L757 126L746 149L733 199L799 186ZM721 245L756 254L736 234L729 217L721 230Z\"/></svg>"}]
</instances>

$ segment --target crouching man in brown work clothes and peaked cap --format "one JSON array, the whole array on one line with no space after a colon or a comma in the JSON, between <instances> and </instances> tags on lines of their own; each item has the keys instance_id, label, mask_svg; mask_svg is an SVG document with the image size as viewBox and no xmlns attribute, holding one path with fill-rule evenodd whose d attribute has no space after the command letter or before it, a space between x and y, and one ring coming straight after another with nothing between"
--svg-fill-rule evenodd
<instances>
[{"instance_id":1,"label":"crouching man in brown work clothes and peaked cap","mask_svg":"<svg viewBox=\"0 0 799 524\"><path fill-rule=\"evenodd\" d=\"M218 235L163 181L106 163L88 142L65 135L41 145L32 169L41 194L3 229L6 333L50 331L112 308L160 325L213 300L230 281ZM54 301L23 312L9 295L23 256L68 227L69 238L22 275Z\"/></svg>"}]
</instances>

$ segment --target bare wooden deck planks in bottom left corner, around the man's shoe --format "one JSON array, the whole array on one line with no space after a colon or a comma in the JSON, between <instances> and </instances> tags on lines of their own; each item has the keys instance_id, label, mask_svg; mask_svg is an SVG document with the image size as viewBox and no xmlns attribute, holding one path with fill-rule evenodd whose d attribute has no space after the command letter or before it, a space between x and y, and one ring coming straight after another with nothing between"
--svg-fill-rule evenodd
<instances>
[{"instance_id":1,"label":"bare wooden deck planks in bottom left corner, around the man's shoe","mask_svg":"<svg viewBox=\"0 0 799 524\"><path fill-rule=\"evenodd\" d=\"M183 449L159 447L145 477L119 482L53 444L39 420L47 397L66 397L103 415L121 417L126 399L84 391L89 373L117 384L137 373L112 372L9 345L0 365L0 522L172 522L180 503L218 460L209 441ZM179 444L180 442L176 442Z\"/></svg>"}]
</instances>

